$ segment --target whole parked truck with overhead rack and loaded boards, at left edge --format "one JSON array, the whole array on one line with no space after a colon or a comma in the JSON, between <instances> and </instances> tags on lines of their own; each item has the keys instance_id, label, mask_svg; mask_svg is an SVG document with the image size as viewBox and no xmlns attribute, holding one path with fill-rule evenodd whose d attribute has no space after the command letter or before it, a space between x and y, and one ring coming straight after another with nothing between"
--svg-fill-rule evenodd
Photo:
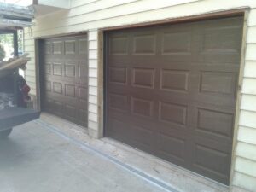
<instances>
[{"instance_id":1,"label":"whole parked truck with overhead rack and loaded boards, at left edge","mask_svg":"<svg viewBox=\"0 0 256 192\"><path fill-rule=\"evenodd\" d=\"M9 136L14 126L37 119L39 112L28 108L27 103L31 100L30 87L19 75L19 69L25 69L26 62L30 59L18 50L17 30L32 26L33 11L7 3L0 3L0 6L3 8L0 10L1 15L8 21L2 22L0 34L12 37L14 48L13 58L8 61L2 61L4 59L0 58L0 138L4 138Z\"/></svg>"}]
</instances>

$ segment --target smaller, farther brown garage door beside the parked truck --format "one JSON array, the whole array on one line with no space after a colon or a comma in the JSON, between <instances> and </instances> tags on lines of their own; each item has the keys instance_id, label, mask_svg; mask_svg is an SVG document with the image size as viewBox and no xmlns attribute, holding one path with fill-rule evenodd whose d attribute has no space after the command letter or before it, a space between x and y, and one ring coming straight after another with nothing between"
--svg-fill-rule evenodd
<instances>
[{"instance_id":1,"label":"smaller, farther brown garage door beside the parked truck","mask_svg":"<svg viewBox=\"0 0 256 192\"><path fill-rule=\"evenodd\" d=\"M87 126L86 36L46 39L41 50L42 109Z\"/></svg>"}]
</instances>

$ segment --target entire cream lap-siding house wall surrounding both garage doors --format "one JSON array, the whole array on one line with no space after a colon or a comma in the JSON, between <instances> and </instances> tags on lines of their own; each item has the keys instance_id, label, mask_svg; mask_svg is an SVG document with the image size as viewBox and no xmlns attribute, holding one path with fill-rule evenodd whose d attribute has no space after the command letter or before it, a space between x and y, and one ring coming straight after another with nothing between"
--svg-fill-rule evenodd
<instances>
[{"instance_id":1,"label":"entire cream lap-siding house wall surrounding both garage doors","mask_svg":"<svg viewBox=\"0 0 256 192\"><path fill-rule=\"evenodd\" d=\"M98 68L100 28L125 26L148 21L190 15L202 15L227 9L250 8L248 12L245 67L239 103L238 133L235 134L231 183L256 191L256 1L255 0L72 0L71 9L38 17L36 26L25 30L25 50L32 61L27 65L26 80L36 95L34 38L47 38L73 32L88 32L89 37L89 133L102 137Z\"/></svg>"}]
</instances>

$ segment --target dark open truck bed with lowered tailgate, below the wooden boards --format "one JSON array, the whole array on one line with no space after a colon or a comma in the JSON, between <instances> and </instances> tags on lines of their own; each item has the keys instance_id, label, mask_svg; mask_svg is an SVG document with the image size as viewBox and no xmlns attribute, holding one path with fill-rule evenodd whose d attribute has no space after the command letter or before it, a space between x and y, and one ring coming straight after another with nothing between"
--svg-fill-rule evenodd
<instances>
[{"instance_id":1,"label":"dark open truck bed with lowered tailgate, below the wooden boards","mask_svg":"<svg viewBox=\"0 0 256 192\"><path fill-rule=\"evenodd\" d=\"M27 108L29 91L26 80L15 70L0 73L0 138L8 137L15 125L39 117L39 112Z\"/></svg>"}]
</instances>

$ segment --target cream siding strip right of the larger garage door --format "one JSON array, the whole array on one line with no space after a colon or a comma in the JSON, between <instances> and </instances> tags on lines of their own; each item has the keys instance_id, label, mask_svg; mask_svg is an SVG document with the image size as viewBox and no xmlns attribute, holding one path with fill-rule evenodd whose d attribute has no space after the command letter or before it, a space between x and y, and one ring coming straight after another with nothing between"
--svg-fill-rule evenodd
<instances>
[{"instance_id":1,"label":"cream siding strip right of the larger garage door","mask_svg":"<svg viewBox=\"0 0 256 192\"><path fill-rule=\"evenodd\" d=\"M233 183L256 191L256 9L247 20L247 48Z\"/></svg>"}]
</instances>

